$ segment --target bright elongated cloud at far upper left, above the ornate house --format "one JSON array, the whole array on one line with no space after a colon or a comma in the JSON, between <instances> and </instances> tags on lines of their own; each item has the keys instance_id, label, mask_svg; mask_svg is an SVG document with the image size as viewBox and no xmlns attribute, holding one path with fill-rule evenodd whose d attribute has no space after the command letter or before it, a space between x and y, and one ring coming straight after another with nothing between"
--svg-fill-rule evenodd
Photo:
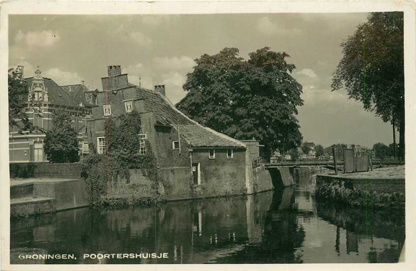
<instances>
[{"instance_id":1,"label":"bright elongated cloud at far upper left, above the ornate house","mask_svg":"<svg viewBox=\"0 0 416 271\"><path fill-rule=\"evenodd\" d=\"M14 41L17 44L24 43L29 47L51 47L59 41L59 39L59 35L51 30L27 32L19 30L14 37Z\"/></svg>"}]
</instances>

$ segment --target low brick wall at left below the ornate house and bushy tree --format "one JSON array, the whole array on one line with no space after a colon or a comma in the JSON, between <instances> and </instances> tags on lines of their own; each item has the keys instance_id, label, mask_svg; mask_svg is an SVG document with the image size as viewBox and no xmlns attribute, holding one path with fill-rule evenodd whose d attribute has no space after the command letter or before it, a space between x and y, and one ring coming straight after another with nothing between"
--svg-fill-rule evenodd
<instances>
[{"instance_id":1,"label":"low brick wall at left below the ornate house and bushy tree","mask_svg":"<svg viewBox=\"0 0 416 271\"><path fill-rule=\"evenodd\" d=\"M78 163L10 163L10 178L64 178L80 179ZM26 171L26 174L21 174Z\"/></svg>"}]
</instances>

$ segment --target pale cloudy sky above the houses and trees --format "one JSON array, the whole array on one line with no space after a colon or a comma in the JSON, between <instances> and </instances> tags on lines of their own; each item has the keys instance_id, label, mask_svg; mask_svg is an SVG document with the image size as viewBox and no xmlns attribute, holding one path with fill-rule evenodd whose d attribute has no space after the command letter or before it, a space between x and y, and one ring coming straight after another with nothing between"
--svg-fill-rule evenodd
<instances>
[{"instance_id":1,"label":"pale cloudy sky above the houses and trees","mask_svg":"<svg viewBox=\"0 0 416 271\"><path fill-rule=\"evenodd\" d=\"M345 90L331 91L342 57L340 43L367 19L366 13L273 13L206 15L11 15L9 67L24 65L25 77L39 66L59 85L82 80L102 89L107 66L120 65L129 81L146 88L165 84L177 103L194 59L236 47L286 52L303 85L297 118L304 141L322 144L391 143L392 127ZM140 80L139 80L140 78ZM398 137L398 134L396 135Z\"/></svg>"}]
</instances>

